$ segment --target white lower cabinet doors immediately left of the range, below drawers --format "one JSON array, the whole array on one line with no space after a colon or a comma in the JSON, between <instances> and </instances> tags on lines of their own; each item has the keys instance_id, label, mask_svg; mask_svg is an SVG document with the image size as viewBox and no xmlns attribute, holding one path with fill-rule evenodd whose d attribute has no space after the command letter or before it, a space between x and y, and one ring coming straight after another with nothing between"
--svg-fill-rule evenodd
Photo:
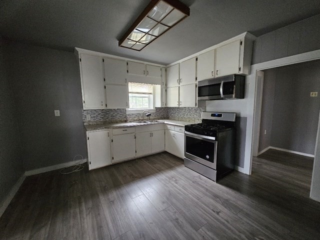
<instances>
[{"instance_id":1,"label":"white lower cabinet doors immediately left of the range, below drawers","mask_svg":"<svg viewBox=\"0 0 320 240\"><path fill-rule=\"evenodd\" d=\"M165 151L176 155L177 157L184 157L184 133L165 130Z\"/></svg>"}]
</instances>

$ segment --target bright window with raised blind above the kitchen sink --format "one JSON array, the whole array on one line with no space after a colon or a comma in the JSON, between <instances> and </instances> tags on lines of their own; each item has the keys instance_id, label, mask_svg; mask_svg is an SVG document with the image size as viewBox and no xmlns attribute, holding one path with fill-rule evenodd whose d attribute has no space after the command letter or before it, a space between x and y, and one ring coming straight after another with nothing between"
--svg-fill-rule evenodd
<instances>
[{"instance_id":1,"label":"bright window with raised blind above the kitchen sink","mask_svg":"<svg viewBox=\"0 0 320 240\"><path fill-rule=\"evenodd\" d=\"M129 108L150 109L153 107L153 85L145 83L128 83Z\"/></svg>"}]
</instances>

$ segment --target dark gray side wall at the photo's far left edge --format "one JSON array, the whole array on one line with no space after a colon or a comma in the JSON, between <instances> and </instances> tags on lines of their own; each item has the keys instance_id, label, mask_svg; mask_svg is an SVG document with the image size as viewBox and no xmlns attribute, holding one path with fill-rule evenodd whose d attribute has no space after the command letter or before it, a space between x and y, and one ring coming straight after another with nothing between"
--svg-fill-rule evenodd
<instances>
[{"instance_id":1,"label":"dark gray side wall at the photo's far left edge","mask_svg":"<svg viewBox=\"0 0 320 240\"><path fill-rule=\"evenodd\" d=\"M24 173L19 154L15 105L4 62L3 46L0 45L0 207L12 186Z\"/></svg>"}]
</instances>

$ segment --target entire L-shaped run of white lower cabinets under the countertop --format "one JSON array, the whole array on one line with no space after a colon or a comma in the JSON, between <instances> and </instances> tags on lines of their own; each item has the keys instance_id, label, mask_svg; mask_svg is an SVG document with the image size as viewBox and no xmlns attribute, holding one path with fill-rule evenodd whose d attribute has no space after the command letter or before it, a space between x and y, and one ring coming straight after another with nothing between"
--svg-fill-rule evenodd
<instances>
[{"instance_id":1,"label":"entire L-shaped run of white lower cabinets under the countertop","mask_svg":"<svg viewBox=\"0 0 320 240\"><path fill-rule=\"evenodd\" d=\"M123 127L119 124L86 126L89 170L164 150L180 158L184 157L183 122L163 120L128 124L124 123Z\"/></svg>"}]
</instances>

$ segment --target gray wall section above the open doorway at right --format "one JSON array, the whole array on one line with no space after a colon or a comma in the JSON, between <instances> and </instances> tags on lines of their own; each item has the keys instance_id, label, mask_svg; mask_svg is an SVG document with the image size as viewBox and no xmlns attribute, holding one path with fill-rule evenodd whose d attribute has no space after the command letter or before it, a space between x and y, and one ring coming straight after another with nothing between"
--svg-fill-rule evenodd
<instances>
[{"instance_id":1,"label":"gray wall section above the open doorway at right","mask_svg":"<svg viewBox=\"0 0 320 240\"><path fill-rule=\"evenodd\" d=\"M320 49L319 25L320 14L257 37L252 64Z\"/></svg>"}]
</instances>

